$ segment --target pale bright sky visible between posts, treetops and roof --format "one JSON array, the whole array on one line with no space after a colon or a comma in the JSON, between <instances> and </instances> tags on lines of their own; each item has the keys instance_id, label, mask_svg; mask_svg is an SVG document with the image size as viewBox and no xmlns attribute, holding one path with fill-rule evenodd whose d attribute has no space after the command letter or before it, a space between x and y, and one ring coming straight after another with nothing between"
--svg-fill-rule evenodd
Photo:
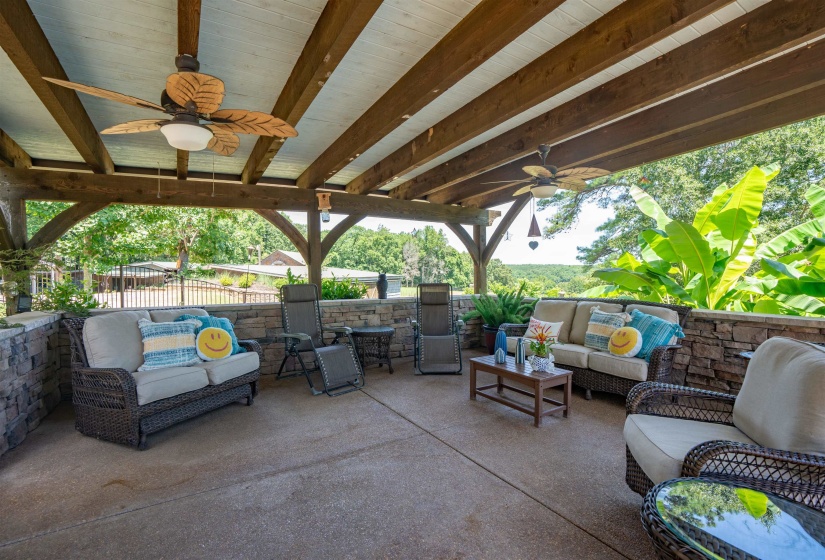
<instances>
[{"instance_id":1,"label":"pale bright sky visible between posts, treetops and roof","mask_svg":"<svg viewBox=\"0 0 825 560\"><path fill-rule=\"evenodd\" d=\"M504 214L509 208L510 204L497 206L495 210L500 210ZM539 241L539 247L533 251L527 245L530 241L527 238L527 230L530 227L530 205L528 204L518 218L510 226L511 239L509 241L502 240L496 250L495 258L501 259L506 264L581 264L576 260L576 247L589 245L598 238L596 228L601 225L607 218L612 215L613 211L609 208L599 208L594 204L586 205L581 212L579 223L572 230L556 236L554 239L542 239ZM306 223L306 215L296 212L287 212L287 215L296 223ZM550 210L539 212L537 219L539 225L542 226L544 221L550 215ZM344 216L332 214L331 220L328 224L323 224L323 229L331 229L339 223ZM495 225L497 225L496 222ZM465 252L464 245L458 238L444 226L444 224L428 224L427 222L411 222L408 220L390 220L387 218L366 218L360 222L361 226L378 229L383 225L390 231L401 233L409 232L414 228L420 228L425 225L432 225L437 229L441 229L450 240L450 245ZM494 229L491 228L490 232ZM472 232L472 229L468 229Z\"/></svg>"}]
</instances>

